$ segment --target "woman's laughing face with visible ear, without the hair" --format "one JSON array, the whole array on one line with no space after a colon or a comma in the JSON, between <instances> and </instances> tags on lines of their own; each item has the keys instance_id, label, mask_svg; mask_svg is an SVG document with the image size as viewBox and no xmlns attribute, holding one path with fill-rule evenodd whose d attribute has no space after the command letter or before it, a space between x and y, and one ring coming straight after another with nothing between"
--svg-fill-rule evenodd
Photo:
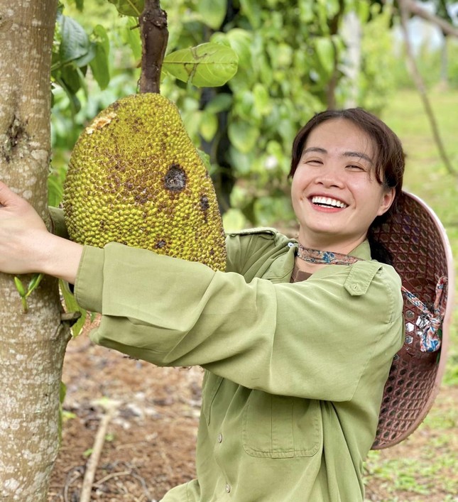
<instances>
[{"instance_id":1,"label":"woman's laughing face with visible ear, without the hair","mask_svg":"<svg viewBox=\"0 0 458 502\"><path fill-rule=\"evenodd\" d=\"M366 239L395 195L376 180L375 154L371 137L347 119L310 132L291 187L303 246L349 253Z\"/></svg>"}]
</instances>

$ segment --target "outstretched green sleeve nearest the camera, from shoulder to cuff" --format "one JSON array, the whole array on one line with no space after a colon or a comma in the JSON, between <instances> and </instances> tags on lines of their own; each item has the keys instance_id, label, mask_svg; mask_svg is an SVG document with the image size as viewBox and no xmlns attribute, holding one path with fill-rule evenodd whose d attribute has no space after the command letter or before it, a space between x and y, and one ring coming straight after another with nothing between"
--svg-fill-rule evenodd
<instances>
[{"instance_id":1,"label":"outstretched green sleeve nearest the camera, from shoulder to cuff","mask_svg":"<svg viewBox=\"0 0 458 502\"><path fill-rule=\"evenodd\" d=\"M400 280L371 261L328 268L302 283L246 283L143 249L86 246L75 295L102 313L97 344L268 393L350 400L367 366L387 371L400 348Z\"/></svg>"}]
</instances>

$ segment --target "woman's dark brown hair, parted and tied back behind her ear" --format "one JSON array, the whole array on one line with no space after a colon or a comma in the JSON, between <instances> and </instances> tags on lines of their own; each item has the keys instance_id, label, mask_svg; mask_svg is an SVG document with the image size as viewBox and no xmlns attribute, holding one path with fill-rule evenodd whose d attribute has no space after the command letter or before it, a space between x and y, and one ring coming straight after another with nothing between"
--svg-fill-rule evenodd
<instances>
[{"instance_id":1,"label":"woman's dark brown hair, parted and tied back behind her ear","mask_svg":"<svg viewBox=\"0 0 458 502\"><path fill-rule=\"evenodd\" d=\"M315 127L331 119L347 119L372 138L376 150L376 180L387 189L395 189L395 198L390 209L388 209L385 214L374 219L368 232L372 257L379 261L390 263L391 258L387 255L388 251L386 251L381 244L374 241L371 237L371 229L378 227L389 215L396 213L396 202L403 187L405 154L398 136L396 136L381 119L378 119L378 117L362 108L326 110L316 114L302 127L302 129L300 129L294 139L293 152L291 155L291 169L288 177L292 178L298 167L309 134Z\"/></svg>"}]
</instances>

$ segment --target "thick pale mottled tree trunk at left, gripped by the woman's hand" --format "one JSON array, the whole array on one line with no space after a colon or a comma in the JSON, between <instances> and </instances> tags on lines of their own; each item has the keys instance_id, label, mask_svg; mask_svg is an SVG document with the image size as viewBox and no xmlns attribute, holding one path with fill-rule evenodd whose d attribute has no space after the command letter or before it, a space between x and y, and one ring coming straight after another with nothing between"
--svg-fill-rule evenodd
<instances>
[{"instance_id":1,"label":"thick pale mottled tree trunk at left, gripped by the woman's hand","mask_svg":"<svg viewBox=\"0 0 458 502\"><path fill-rule=\"evenodd\" d=\"M56 9L57 0L0 0L0 179L45 222ZM58 452L69 330L57 280L44 278L28 304L26 314L13 277L0 274L1 501L45 501Z\"/></svg>"}]
</instances>

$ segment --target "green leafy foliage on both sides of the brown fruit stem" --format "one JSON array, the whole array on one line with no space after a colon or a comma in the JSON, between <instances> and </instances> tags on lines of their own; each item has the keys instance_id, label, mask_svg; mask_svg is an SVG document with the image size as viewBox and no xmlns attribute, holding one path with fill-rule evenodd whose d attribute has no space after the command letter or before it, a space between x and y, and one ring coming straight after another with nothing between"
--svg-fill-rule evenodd
<instances>
[{"instance_id":1,"label":"green leafy foliage on both sides of the brown fruit stem","mask_svg":"<svg viewBox=\"0 0 458 502\"><path fill-rule=\"evenodd\" d=\"M76 126L72 129L77 133L90 118L89 111L82 110L82 102L87 110L97 101L94 80L99 89L107 89L108 82L110 87L115 82L129 82L126 90L135 92L138 78L141 44L137 20L119 18L119 14L138 16L143 1L104 3L115 13L116 27L112 21L97 19L92 6L90 17L96 17L98 26L85 27L86 31L92 29L90 35L60 14L57 39L62 48L56 55L54 77L67 94L65 106L70 103ZM161 89L180 107L196 146L209 155L222 211L231 209L232 223L228 220L228 224L275 224L278 219L293 224L287 179L293 138L312 114L329 106L329 99L335 101L334 106L344 106L354 86L345 78L346 41L340 33L344 16L352 11L365 23L369 16L376 17L370 4L356 0L161 2L168 13L169 29ZM89 4L84 5L84 13L87 9ZM86 19L81 22L87 23ZM110 23L112 27L107 29ZM67 60L62 60L60 55L65 54ZM379 51L377 56L381 54ZM113 64L116 58L127 61L124 68ZM376 72L377 64L367 54L360 72L367 77L359 99L374 110L383 107L387 92L386 79ZM124 78L120 77L122 70ZM119 95L113 98L124 94L119 88ZM65 114L64 102L61 104L59 113ZM61 162L50 184L53 203L59 200L58 185L65 176L65 158ZM234 211L239 215L234 217Z\"/></svg>"}]
</instances>

